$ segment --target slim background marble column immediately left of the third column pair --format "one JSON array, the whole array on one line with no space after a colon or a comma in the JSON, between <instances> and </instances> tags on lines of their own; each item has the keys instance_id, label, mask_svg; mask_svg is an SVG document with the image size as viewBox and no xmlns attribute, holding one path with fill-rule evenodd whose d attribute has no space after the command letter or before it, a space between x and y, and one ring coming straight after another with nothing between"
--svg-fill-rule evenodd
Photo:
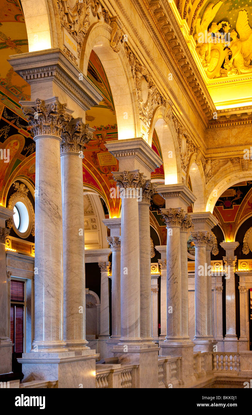
<instances>
[{"instance_id":1,"label":"slim background marble column immediately left of the third column pair","mask_svg":"<svg viewBox=\"0 0 252 415\"><path fill-rule=\"evenodd\" d=\"M161 332L159 340L164 340L166 336L166 245L155 247L161 253L158 260L160 266L160 323Z\"/></svg>"}]
</instances>

